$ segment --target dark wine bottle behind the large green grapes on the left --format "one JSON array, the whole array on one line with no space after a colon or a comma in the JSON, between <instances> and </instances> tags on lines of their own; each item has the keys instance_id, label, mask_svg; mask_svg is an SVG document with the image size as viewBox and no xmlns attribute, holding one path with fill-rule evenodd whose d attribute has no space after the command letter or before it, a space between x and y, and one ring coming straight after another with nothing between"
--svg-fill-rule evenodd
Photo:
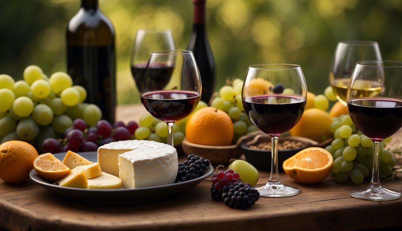
<instances>
[{"instance_id":1,"label":"dark wine bottle behind the large green grapes on the left","mask_svg":"<svg viewBox=\"0 0 402 231\"><path fill-rule=\"evenodd\" d=\"M67 72L87 90L87 103L100 107L103 119L115 122L115 32L98 0L81 0L67 27Z\"/></svg>"}]
</instances>

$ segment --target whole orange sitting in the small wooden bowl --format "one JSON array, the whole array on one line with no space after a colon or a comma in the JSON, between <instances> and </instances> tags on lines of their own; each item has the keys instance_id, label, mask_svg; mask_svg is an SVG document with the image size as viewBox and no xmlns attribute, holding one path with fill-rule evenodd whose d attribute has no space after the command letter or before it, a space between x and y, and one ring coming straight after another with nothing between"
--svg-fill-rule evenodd
<instances>
[{"instance_id":1,"label":"whole orange sitting in the small wooden bowl","mask_svg":"<svg viewBox=\"0 0 402 231\"><path fill-rule=\"evenodd\" d=\"M204 107L187 121L186 137L194 144L226 146L232 143L233 122L229 115L215 107Z\"/></svg>"}]
</instances>

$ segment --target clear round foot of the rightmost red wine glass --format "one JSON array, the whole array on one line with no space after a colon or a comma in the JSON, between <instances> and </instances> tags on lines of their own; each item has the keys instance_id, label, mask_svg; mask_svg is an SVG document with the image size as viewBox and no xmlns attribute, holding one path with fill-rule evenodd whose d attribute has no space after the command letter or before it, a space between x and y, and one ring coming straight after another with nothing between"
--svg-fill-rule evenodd
<instances>
[{"instance_id":1,"label":"clear round foot of the rightmost red wine glass","mask_svg":"<svg viewBox=\"0 0 402 231\"><path fill-rule=\"evenodd\" d=\"M379 189L369 187L352 188L349 194L352 197L368 201L390 201L401 197L401 193L398 190L383 187Z\"/></svg>"}]
</instances>

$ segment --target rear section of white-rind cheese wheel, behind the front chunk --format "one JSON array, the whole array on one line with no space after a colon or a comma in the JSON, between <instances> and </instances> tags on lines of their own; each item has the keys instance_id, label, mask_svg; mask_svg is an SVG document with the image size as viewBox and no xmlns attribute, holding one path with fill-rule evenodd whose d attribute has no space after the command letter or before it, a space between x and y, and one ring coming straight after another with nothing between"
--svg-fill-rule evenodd
<instances>
[{"instance_id":1,"label":"rear section of white-rind cheese wheel, behind the front chunk","mask_svg":"<svg viewBox=\"0 0 402 231\"><path fill-rule=\"evenodd\" d=\"M149 140L122 140L110 142L98 148L98 163L103 172L107 172L114 176L119 176L118 158L119 154L141 148L143 146L153 146L154 141Z\"/></svg>"}]
</instances>

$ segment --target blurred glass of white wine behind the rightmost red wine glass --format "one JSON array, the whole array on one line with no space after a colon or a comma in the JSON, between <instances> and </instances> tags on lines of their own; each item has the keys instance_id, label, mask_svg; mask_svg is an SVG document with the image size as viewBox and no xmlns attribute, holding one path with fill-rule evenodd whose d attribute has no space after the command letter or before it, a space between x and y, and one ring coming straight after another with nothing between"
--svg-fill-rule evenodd
<instances>
[{"instance_id":1,"label":"blurred glass of white wine behind the rightmost red wine glass","mask_svg":"<svg viewBox=\"0 0 402 231\"><path fill-rule=\"evenodd\" d=\"M347 89L357 62L381 59L381 53L377 42L359 40L339 42L332 59L329 75L330 85L332 89L334 89L338 101L346 106ZM377 86L373 85L367 87Z\"/></svg>"}]
</instances>

